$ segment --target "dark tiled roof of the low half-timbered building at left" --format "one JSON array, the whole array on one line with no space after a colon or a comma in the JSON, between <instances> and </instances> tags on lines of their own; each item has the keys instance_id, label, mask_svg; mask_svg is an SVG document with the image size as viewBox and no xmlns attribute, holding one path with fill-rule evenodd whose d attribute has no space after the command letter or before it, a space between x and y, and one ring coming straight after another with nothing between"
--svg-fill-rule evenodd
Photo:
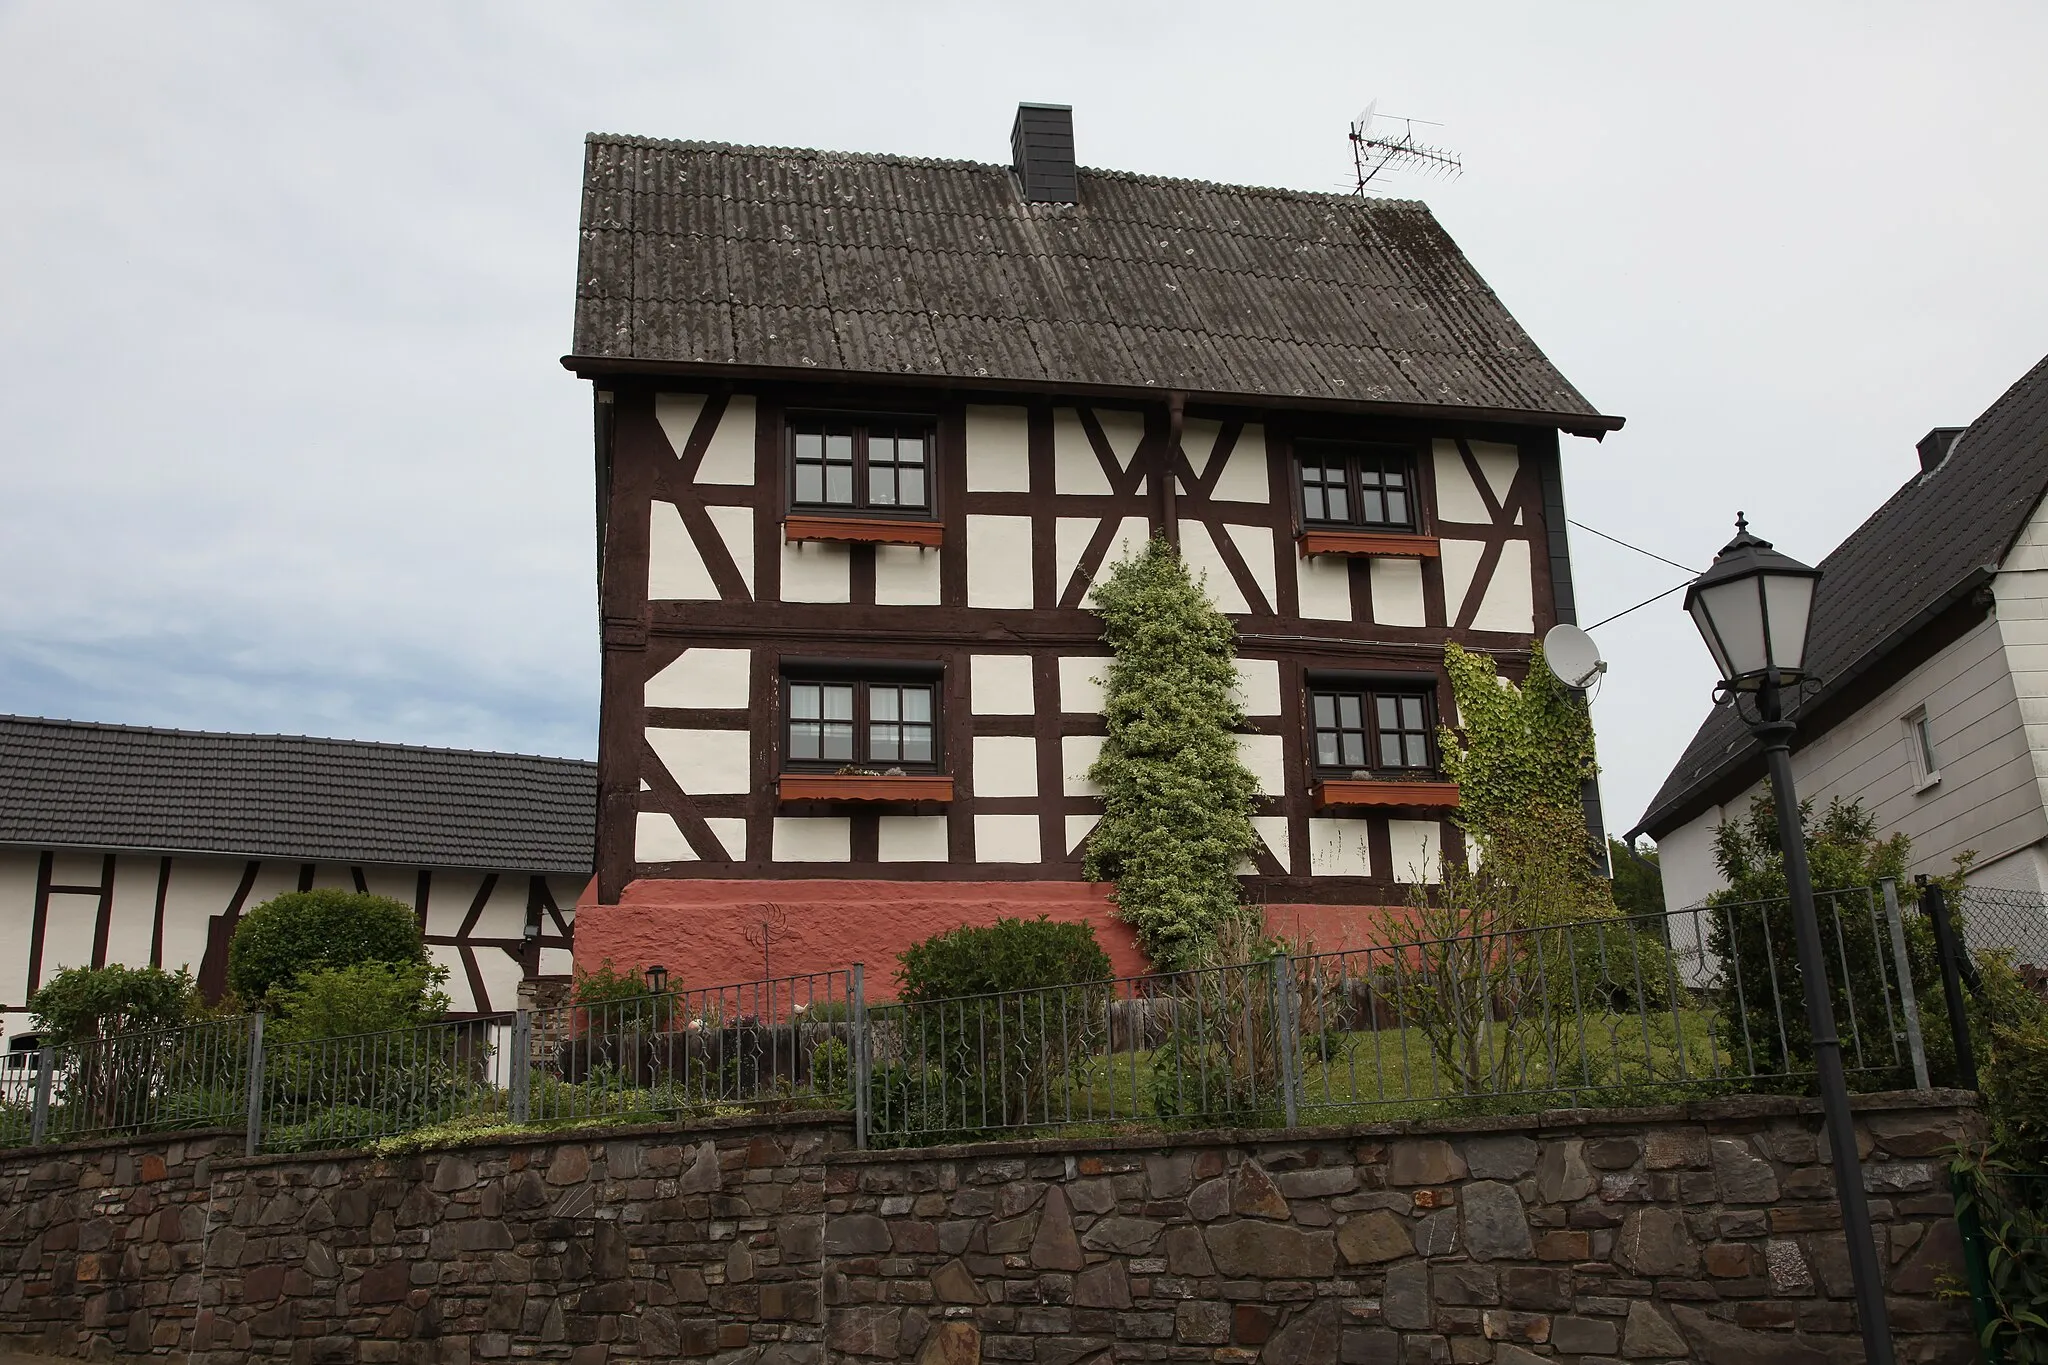
<instances>
[{"instance_id":1,"label":"dark tiled roof of the low half-timbered building at left","mask_svg":"<svg viewBox=\"0 0 2048 1365\"><path fill-rule=\"evenodd\" d=\"M0 716L0 843L584 876L578 759Z\"/></svg>"}]
</instances>

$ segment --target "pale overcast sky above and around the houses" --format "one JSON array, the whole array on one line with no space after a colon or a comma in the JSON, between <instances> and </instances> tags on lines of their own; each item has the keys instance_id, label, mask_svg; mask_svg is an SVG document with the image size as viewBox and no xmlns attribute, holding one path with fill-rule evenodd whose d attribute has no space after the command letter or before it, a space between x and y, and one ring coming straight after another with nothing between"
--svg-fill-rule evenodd
<instances>
[{"instance_id":1,"label":"pale overcast sky above and around the houses","mask_svg":"<svg viewBox=\"0 0 2048 1365\"><path fill-rule=\"evenodd\" d=\"M0 710L590 755L582 137L1430 201L1602 409L1579 522L1819 559L2048 352L2042 4L0 0ZM1683 575L1573 532L1583 620ZM1704 714L1675 600L1597 632L1610 823Z\"/></svg>"}]
</instances>

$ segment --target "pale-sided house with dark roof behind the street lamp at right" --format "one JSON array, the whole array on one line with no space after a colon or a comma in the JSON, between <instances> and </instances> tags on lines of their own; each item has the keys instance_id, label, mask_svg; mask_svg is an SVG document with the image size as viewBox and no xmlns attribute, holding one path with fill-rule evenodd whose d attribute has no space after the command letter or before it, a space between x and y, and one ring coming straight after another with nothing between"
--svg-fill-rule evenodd
<instances>
[{"instance_id":1,"label":"pale-sided house with dark roof behind the street lamp at right","mask_svg":"<svg viewBox=\"0 0 2048 1365\"><path fill-rule=\"evenodd\" d=\"M1913 872L1974 849L1972 886L2048 892L2044 493L2048 360L1968 428L1929 432L1919 471L1821 561L1798 794L1864 802L1913 839ZM1714 829L1761 776L1743 722L1708 714L1630 831L1657 839L1669 905L1722 886Z\"/></svg>"}]
</instances>

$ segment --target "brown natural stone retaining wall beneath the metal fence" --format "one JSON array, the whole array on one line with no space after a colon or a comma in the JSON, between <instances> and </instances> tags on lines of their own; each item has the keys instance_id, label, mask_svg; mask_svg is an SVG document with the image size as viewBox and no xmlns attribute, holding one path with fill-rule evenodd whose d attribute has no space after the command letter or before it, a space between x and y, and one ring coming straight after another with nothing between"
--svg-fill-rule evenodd
<instances>
[{"instance_id":1,"label":"brown natural stone retaining wall beneath the metal fence","mask_svg":"<svg viewBox=\"0 0 2048 1365\"><path fill-rule=\"evenodd\" d=\"M1939 1152L1868 1097L1901 1359L1972 1359ZM0 1154L0 1345L205 1365L1860 1359L1819 1113L1735 1099L854 1152L844 1115L406 1158Z\"/></svg>"}]
</instances>

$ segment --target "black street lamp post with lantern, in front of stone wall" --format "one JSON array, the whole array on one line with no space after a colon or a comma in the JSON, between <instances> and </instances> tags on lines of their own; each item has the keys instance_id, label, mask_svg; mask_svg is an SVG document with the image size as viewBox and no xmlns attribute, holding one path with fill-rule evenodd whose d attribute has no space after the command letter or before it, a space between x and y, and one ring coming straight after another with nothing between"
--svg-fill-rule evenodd
<instances>
[{"instance_id":1,"label":"black street lamp post with lantern, in front of stone wall","mask_svg":"<svg viewBox=\"0 0 2048 1365\"><path fill-rule=\"evenodd\" d=\"M1841 1201L1841 1230L1849 1240L1849 1277L1855 1281L1864 1359L1872 1365L1892 1365L1884 1271L1870 1244L1864 1162L1858 1158L1855 1121L1849 1117L1849 1085L1841 1072L1835 1009L1827 999L1827 960L1821 950L1821 921L1812 909L1806 833L1800 829L1798 794L1792 790L1792 722L1784 716L1784 690L1798 688L1806 679L1806 628L1819 579L1819 569L1780 555L1769 540L1751 536L1749 522L1737 514L1735 540L1729 540L1708 571L1686 589L1686 610L1692 612L1720 667L1720 688L1763 745L1772 798L1778 804L1778 843L1786 855L1786 892L1792 898L1798 972L1806 993L1806 1029L1812 1033L1812 1062L1821 1076L1821 1105L1827 1111L1827 1144L1835 1158L1835 1197ZM1745 696L1753 698L1755 714L1743 708Z\"/></svg>"}]
</instances>

